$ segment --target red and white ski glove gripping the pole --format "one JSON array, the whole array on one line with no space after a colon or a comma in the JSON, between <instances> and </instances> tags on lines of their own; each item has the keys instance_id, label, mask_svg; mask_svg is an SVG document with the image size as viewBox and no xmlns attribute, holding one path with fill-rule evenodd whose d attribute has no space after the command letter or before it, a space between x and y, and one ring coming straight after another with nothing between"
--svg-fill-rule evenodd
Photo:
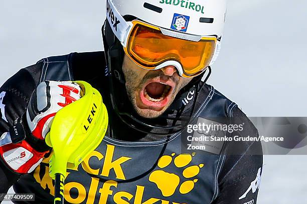
<instances>
[{"instance_id":1,"label":"red and white ski glove gripping the pole","mask_svg":"<svg viewBox=\"0 0 307 204\"><path fill-rule=\"evenodd\" d=\"M0 155L13 171L32 172L50 147L45 137L55 114L81 98L80 86L74 82L44 81L33 92L26 114L15 120L10 131L0 138Z\"/></svg>"}]
</instances>

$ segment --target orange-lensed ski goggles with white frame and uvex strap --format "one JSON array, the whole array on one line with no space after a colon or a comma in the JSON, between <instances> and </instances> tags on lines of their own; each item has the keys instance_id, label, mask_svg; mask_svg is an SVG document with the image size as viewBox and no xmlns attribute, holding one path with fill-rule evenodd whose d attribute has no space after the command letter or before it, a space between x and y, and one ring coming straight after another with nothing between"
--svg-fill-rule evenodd
<instances>
[{"instance_id":1,"label":"orange-lensed ski goggles with white frame and uvex strap","mask_svg":"<svg viewBox=\"0 0 307 204\"><path fill-rule=\"evenodd\" d=\"M203 73L214 58L218 40L172 31L139 20L126 22L111 1L106 17L128 58L146 70L174 66L184 78Z\"/></svg>"}]
</instances>

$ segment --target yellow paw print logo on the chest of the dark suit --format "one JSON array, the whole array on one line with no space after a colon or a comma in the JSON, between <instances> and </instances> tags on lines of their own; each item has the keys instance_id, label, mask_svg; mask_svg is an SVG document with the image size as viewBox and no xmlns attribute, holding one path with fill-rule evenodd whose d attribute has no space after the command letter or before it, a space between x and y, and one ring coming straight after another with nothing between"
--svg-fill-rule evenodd
<instances>
[{"instance_id":1,"label":"yellow paw print logo on the chest of the dark suit","mask_svg":"<svg viewBox=\"0 0 307 204\"><path fill-rule=\"evenodd\" d=\"M181 194L187 194L193 190L195 183L198 181L198 179L193 179L193 177L197 176L200 169L204 166L202 163L189 166L193 156L195 156L195 152L193 152L192 155L180 154L175 158L174 156L175 153L172 153L172 156L162 156L158 161L158 166L161 169L155 170L149 175L149 181L155 183L165 197L173 195L179 185L179 192ZM180 178L182 176L163 170L170 166L172 162L177 168L183 168L182 176L188 180L181 182Z\"/></svg>"}]
</instances>

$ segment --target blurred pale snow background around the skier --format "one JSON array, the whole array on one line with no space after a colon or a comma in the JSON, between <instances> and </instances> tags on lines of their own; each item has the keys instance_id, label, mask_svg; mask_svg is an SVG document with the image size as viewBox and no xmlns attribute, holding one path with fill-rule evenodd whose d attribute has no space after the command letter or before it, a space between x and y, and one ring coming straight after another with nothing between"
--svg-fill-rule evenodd
<instances>
[{"instance_id":1,"label":"blurred pale snow background around the skier","mask_svg":"<svg viewBox=\"0 0 307 204\"><path fill-rule=\"evenodd\" d=\"M304 0L229 0L209 83L248 116L307 116L306 7ZM44 57L101 50L104 18L104 1L3 1L0 84ZM307 203L306 158L265 155L258 203Z\"/></svg>"}]
</instances>

